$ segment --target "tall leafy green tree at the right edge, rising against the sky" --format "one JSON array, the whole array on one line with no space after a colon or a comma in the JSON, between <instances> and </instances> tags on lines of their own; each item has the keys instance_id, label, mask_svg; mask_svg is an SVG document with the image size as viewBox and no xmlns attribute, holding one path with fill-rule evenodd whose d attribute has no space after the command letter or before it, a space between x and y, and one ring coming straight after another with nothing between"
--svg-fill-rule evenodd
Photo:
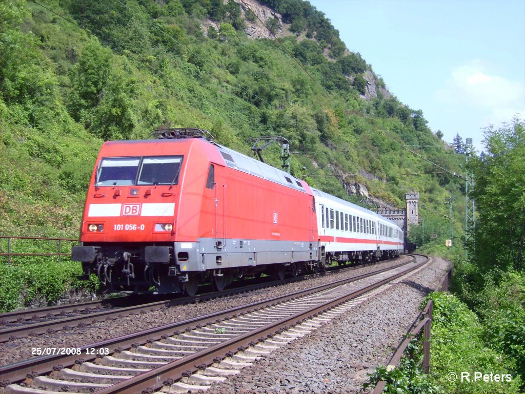
<instances>
[{"instance_id":1,"label":"tall leafy green tree at the right edge, rising against the sky","mask_svg":"<svg viewBox=\"0 0 525 394\"><path fill-rule=\"evenodd\" d=\"M514 118L485 129L486 156L474 157L477 220L468 247L480 267L523 270L525 247L525 123Z\"/></svg>"}]
</instances>

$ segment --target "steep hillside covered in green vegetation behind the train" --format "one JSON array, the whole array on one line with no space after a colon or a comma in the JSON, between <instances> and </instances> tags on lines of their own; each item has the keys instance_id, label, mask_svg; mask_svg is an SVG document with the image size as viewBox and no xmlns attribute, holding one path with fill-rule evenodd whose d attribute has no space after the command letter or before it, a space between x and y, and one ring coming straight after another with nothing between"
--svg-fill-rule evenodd
<instances>
[{"instance_id":1,"label":"steep hillside covered in green vegetation behind the train","mask_svg":"<svg viewBox=\"0 0 525 394\"><path fill-rule=\"evenodd\" d=\"M209 130L246 154L249 137L282 135L298 152L294 175L353 202L361 203L343 184L364 184L399 206L417 190L438 211L452 195L461 209L455 178L399 175L433 171L401 145L443 142L307 2L267 3L283 31L296 33L279 41L249 39L244 28L255 15L233 1L41 4L0 4L2 234L76 238L102 142L143 139L166 123ZM379 88L368 101L366 83ZM453 170L461 161L443 148L420 153ZM280 166L278 146L264 154ZM347 175L362 170L376 178Z\"/></svg>"}]
</instances>

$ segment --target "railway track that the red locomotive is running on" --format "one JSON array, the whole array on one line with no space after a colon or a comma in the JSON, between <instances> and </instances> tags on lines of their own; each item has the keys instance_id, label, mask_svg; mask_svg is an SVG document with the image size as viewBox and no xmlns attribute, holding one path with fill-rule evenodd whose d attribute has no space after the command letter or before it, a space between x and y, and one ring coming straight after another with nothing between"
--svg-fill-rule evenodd
<instances>
[{"instance_id":1,"label":"railway track that the red locomotive is running on","mask_svg":"<svg viewBox=\"0 0 525 394\"><path fill-rule=\"evenodd\" d=\"M331 267L329 272L341 272L341 270L352 270L357 267ZM0 315L0 343L41 334L52 334L63 329L69 330L74 327L83 327L104 320L113 320L122 316L139 314L146 311L154 311L164 307L172 307L193 302L206 301L217 297L231 296L243 292L259 290L265 287L306 280L319 273L288 278L282 281L260 281L245 280L237 282L240 286L226 289L220 292L211 291L197 294L193 297L178 296L174 299L166 299L166 296L158 296L160 301L144 303L142 296L124 296L113 299L87 301L76 304L48 306L34 310L9 312ZM206 291L206 287L203 286ZM148 296L152 298L152 296Z\"/></svg>"}]
</instances>

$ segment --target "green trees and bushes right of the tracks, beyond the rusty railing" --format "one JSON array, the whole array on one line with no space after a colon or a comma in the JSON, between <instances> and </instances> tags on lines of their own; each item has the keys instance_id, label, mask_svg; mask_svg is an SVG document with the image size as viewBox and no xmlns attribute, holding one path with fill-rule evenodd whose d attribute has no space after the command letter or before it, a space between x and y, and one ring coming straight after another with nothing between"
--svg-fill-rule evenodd
<instances>
[{"instance_id":1,"label":"green trees and bushes right of the tracks, beyond the rusty railing","mask_svg":"<svg viewBox=\"0 0 525 394\"><path fill-rule=\"evenodd\" d=\"M451 290L433 294L432 376L446 392L525 392L525 273L523 229L525 127L522 120L485 130L486 153L470 156L476 180L476 228L468 259L455 255ZM456 148L464 150L459 137ZM436 224L433 224L436 226ZM421 227L413 237L422 236ZM446 231L446 229L444 229ZM426 243L424 250L443 254ZM512 381L450 381L447 374L509 375Z\"/></svg>"}]
</instances>

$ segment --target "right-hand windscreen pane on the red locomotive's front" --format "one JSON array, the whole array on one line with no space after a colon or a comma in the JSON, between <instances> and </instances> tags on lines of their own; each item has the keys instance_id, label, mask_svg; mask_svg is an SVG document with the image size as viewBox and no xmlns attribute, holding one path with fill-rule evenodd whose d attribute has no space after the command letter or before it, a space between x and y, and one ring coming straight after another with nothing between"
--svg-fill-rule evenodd
<instances>
[{"instance_id":1,"label":"right-hand windscreen pane on the red locomotive's front","mask_svg":"<svg viewBox=\"0 0 525 394\"><path fill-rule=\"evenodd\" d=\"M181 161L180 156L144 157L137 185L176 185Z\"/></svg>"}]
</instances>

